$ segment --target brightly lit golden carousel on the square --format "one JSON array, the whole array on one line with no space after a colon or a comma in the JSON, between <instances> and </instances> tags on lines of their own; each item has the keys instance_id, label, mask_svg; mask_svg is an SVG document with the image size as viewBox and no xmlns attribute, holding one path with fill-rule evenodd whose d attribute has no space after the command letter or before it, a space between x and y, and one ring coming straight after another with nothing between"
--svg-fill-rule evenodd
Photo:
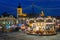
<instances>
[{"instance_id":1,"label":"brightly lit golden carousel on the square","mask_svg":"<svg viewBox=\"0 0 60 40\"><path fill-rule=\"evenodd\" d=\"M55 24L56 19L51 17L29 19L26 33L33 35L54 35L57 34Z\"/></svg>"}]
</instances>

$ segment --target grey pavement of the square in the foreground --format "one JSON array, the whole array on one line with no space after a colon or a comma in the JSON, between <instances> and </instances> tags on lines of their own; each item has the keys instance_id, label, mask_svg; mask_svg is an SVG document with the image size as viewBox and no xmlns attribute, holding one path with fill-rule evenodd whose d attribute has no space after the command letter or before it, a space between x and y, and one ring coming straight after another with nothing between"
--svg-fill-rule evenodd
<instances>
[{"instance_id":1,"label":"grey pavement of the square in the foreground","mask_svg":"<svg viewBox=\"0 0 60 40\"><path fill-rule=\"evenodd\" d=\"M53 36L27 35L21 32L0 34L0 40L60 40L60 34Z\"/></svg>"}]
</instances>

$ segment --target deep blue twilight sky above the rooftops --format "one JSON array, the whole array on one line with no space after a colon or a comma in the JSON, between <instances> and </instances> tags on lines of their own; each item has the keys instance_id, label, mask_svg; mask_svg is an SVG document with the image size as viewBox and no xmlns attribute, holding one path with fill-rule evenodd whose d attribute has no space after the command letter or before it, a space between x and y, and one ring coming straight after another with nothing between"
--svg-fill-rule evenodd
<instances>
[{"instance_id":1,"label":"deep blue twilight sky above the rooftops","mask_svg":"<svg viewBox=\"0 0 60 40\"><path fill-rule=\"evenodd\" d=\"M60 0L0 0L0 15L8 12L16 16L19 3L24 13L32 12L33 3L35 13L39 14L44 10L45 15L60 16Z\"/></svg>"}]
</instances>

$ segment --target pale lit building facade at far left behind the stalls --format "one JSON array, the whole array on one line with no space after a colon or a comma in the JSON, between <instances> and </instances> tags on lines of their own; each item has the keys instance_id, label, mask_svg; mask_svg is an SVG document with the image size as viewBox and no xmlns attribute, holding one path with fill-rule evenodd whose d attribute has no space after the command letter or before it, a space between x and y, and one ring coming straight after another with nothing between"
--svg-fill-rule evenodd
<instances>
[{"instance_id":1,"label":"pale lit building facade at far left behind the stalls","mask_svg":"<svg viewBox=\"0 0 60 40\"><path fill-rule=\"evenodd\" d=\"M9 15L4 17L3 15L0 18L1 24L14 24L16 19L13 17L13 15Z\"/></svg>"}]
</instances>

